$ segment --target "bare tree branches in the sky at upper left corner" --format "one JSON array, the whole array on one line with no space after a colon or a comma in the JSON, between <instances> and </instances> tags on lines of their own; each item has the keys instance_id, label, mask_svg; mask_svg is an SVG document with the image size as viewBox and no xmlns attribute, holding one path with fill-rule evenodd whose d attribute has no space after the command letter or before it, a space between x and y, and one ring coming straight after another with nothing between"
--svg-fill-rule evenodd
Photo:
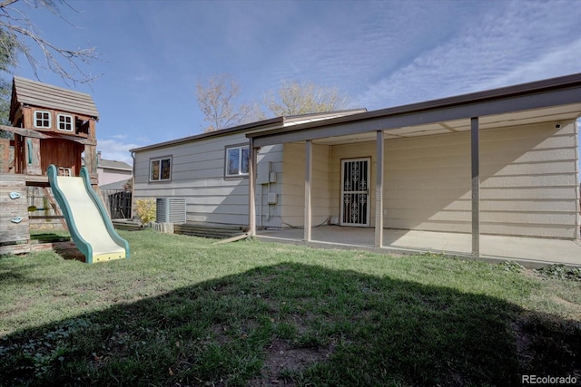
<instances>
[{"instance_id":1,"label":"bare tree branches in the sky at upper left corner","mask_svg":"<svg viewBox=\"0 0 581 387\"><path fill-rule=\"evenodd\" d=\"M68 22L61 15L57 5L66 5L74 10L66 0L5 0L0 2L0 70L15 67L18 63L18 54L23 53L36 78L39 78L39 69L48 69L60 75L64 82L88 83L94 81L98 75L86 73L82 66L97 58L95 48L69 50L47 41L28 15L14 6L15 3L19 2L25 3L30 8L44 7L55 16L63 19L65 23ZM44 61L41 62L34 58L28 45L30 43L40 48Z\"/></svg>"}]
</instances>

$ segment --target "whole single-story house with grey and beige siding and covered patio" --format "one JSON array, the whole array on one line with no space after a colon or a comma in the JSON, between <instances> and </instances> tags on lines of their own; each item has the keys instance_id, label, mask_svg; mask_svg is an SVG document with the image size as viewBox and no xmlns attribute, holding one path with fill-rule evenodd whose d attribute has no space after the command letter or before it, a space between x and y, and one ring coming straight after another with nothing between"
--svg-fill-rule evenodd
<instances>
[{"instance_id":1,"label":"whole single-story house with grey and beige siding and covered patio","mask_svg":"<svg viewBox=\"0 0 581 387\"><path fill-rule=\"evenodd\" d=\"M485 236L578 242L579 117L581 73L274 119L133 150L135 195L186 198L189 222L248 224L251 235L302 227L307 243L321 224L372 229L379 248L393 244L389 230L461 235L473 256Z\"/></svg>"}]
</instances>

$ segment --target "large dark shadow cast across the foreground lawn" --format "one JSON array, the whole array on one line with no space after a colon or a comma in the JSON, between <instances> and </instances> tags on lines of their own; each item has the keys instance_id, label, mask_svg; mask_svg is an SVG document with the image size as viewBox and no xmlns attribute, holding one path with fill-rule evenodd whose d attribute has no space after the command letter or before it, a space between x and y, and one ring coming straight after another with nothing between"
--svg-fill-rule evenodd
<instances>
[{"instance_id":1,"label":"large dark shadow cast across the foreground lawn","mask_svg":"<svg viewBox=\"0 0 581 387\"><path fill-rule=\"evenodd\" d=\"M485 295L289 263L13 334L0 381L520 385L578 375L579 331Z\"/></svg>"}]
</instances>

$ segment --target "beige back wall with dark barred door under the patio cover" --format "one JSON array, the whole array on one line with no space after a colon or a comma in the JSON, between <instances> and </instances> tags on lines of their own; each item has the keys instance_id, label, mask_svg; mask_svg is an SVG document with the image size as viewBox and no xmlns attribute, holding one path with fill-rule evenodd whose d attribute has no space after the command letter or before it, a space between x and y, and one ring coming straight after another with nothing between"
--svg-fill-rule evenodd
<instances>
[{"instance_id":1,"label":"beige back wall with dark barred door under the patio cover","mask_svg":"<svg viewBox=\"0 0 581 387\"><path fill-rule=\"evenodd\" d=\"M369 137L369 136L368 136ZM376 224L377 143L312 140L312 225ZM579 237L576 120L482 125L479 209L482 234ZM469 120L448 129L386 131L383 227L470 233ZM304 226L305 145L283 144L286 223Z\"/></svg>"}]
</instances>

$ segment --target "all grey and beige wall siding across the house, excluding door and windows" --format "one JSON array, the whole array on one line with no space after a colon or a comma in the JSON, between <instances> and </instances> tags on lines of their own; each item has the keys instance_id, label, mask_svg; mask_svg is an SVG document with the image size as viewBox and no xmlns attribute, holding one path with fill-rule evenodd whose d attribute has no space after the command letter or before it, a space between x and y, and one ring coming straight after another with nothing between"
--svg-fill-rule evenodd
<instances>
[{"instance_id":1,"label":"all grey and beige wall siding across the house, excluding door and windows","mask_svg":"<svg viewBox=\"0 0 581 387\"><path fill-rule=\"evenodd\" d=\"M562 122L480 133L481 232L576 238L579 228L577 127ZM204 139L136 155L135 197L183 197L189 221L246 224L248 179L224 179L224 149L243 134ZM304 144L263 147L277 181L256 189L259 226L302 226ZM313 225L340 217L340 163L369 157L373 195L375 142L313 145ZM172 156L172 181L148 182L149 160ZM385 141L384 225L389 228L470 232L468 132ZM278 204L268 204L268 193ZM370 198L370 225L375 200Z\"/></svg>"}]
</instances>

